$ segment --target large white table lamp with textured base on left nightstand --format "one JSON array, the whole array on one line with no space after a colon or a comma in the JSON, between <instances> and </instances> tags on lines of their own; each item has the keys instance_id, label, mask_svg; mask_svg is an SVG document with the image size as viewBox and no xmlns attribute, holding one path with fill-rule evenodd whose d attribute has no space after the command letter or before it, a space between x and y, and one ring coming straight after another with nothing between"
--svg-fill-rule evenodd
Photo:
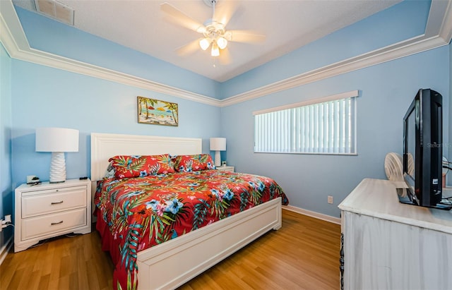
<instances>
[{"instance_id":1,"label":"large white table lamp with textured base on left nightstand","mask_svg":"<svg viewBox=\"0 0 452 290\"><path fill-rule=\"evenodd\" d=\"M64 152L78 152L78 130L36 128L36 152L52 152L50 183L66 181Z\"/></svg>"}]
</instances>

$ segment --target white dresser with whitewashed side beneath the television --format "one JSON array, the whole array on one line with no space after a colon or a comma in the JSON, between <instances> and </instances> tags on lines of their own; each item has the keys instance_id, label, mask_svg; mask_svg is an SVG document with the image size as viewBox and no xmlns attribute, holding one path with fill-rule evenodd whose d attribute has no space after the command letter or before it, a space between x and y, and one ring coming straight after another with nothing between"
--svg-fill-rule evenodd
<instances>
[{"instance_id":1,"label":"white dresser with whitewashed side beneath the television","mask_svg":"<svg viewBox=\"0 0 452 290\"><path fill-rule=\"evenodd\" d=\"M452 211L399 203L403 186L364 179L340 203L343 289L452 289Z\"/></svg>"}]
</instances>

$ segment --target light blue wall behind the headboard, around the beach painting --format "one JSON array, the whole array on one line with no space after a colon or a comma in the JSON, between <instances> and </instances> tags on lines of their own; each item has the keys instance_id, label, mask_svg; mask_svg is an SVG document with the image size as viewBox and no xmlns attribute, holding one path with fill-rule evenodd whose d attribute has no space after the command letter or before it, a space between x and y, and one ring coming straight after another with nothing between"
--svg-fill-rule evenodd
<instances>
[{"instance_id":1,"label":"light blue wall behind the headboard, around the beach painting","mask_svg":"<svg viewBox=\"0 0 452 290\"><path fill-rule=\"evenodd\" d=\"M208 153L208 138L220 131L218 107L25 61L13 61L11 86L13 186L25 182L27 175L49 179L50 154L35 152L37 127L80 131L78 152L66 153L68 179L90 176L93 132L203 138ZM137 96L179 104L179 126L138 123Z\"/></svg>"}]
</instances>

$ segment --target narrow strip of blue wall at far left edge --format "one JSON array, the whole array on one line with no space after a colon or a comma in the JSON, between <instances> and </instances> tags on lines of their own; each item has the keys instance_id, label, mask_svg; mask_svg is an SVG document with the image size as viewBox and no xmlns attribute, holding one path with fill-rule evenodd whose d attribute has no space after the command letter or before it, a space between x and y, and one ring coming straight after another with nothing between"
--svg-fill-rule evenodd
<instances>
[{"instance_id":1,"label":"narrow strip of blue wall at far left edge","mask_svg":"<svg viewBox=\"0 0 452 290\"><path fill-rule=\"evenodd\" d=\"M0 218L13 212L11 186L11 58L0 44ZM0 247L12 236L9 227L0 233Z\"/></svg>"}]
</instances>

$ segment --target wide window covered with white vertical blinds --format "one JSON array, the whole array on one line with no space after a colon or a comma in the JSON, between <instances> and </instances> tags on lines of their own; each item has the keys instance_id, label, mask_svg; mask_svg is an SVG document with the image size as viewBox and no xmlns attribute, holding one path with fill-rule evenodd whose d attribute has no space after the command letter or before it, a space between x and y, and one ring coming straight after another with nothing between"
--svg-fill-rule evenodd
<instances>
[{"instance_id":1,"label":"wide window covered with white vertical blinds","mask_svg":"<svg viewBox=\"0 0 452 290\"><path fill-rule=\"evenodd\" d=\"M254 114L254 152L355 155L358 91Z\"/></svg>"}]
</instances>

